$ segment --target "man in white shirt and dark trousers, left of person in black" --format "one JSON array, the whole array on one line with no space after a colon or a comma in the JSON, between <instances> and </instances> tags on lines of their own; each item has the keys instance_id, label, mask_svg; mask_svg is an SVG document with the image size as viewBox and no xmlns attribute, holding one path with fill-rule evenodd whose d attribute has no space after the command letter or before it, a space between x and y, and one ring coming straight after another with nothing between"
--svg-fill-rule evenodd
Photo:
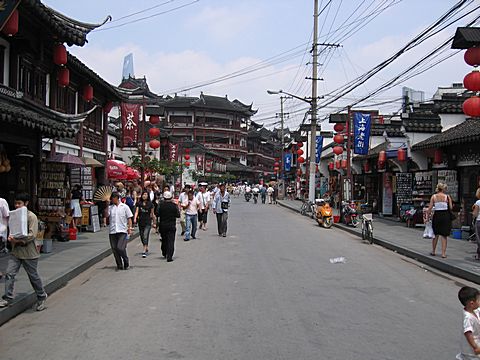
<instances>
[{"instance_id":1,"label":"man in white shirt and dark trousers, left of person in black","mask_svg":"<svg viewBox=\"0 0 480 360\"><path fill-rule=\"evenodd\" d=\"M117 192L110 196L112 204L108 208L110 218L110 247L117 263L117 270L128 270L130 263L127 256L128 237L132 234L132 217L130 208L120 201Z\"/></svg>"}]
</instances>

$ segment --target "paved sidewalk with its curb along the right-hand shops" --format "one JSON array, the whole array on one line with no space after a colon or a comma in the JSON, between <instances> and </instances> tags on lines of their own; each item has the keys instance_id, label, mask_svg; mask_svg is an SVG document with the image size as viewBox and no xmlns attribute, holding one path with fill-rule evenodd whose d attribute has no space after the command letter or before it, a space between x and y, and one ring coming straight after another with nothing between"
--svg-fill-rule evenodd
<instances>
[{"instance_id":1,"label":"paved sidewalk with its curb along the right-hand shops","mask_svg":"<svg viewBox=\"0 0 480 360\"><path fill-rule=\"evenodd\" d=\"M301 201L298 200L279 200L278 204L296 212L300 212L302 206ZM343 224L334 224L334 226L361 237L360 224L356 228ZM447 258L442 259L440 256L441 241L439 240L437 245L437 256L431 256L432 240L422 237L423 228L407 228L405 223L374 218L373 235L374 242L378 245L418 260L432 268L480 284L480 261L474 259L477 250L476 243L449 237Z\"/></svg>"}]
</instances>

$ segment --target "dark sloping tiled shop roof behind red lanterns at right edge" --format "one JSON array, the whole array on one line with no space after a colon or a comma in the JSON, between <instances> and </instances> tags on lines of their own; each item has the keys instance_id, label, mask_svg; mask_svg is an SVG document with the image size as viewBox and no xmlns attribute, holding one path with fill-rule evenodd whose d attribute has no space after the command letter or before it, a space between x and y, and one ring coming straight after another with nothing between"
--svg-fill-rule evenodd
<instances>
[{"instance_id":1,"label":"dark sloping tiled shop roof behind red lanterns at right edge","mask_svg":"<svg viewBox=\"0 0 480 360\"><path fill-rule=\"evenodd\" d=\"M480 119L467 119L464 122L434 135L412 147L412 150L431 149L436 147L465 144L480 141Z\"/></svg>"}]
</instances>

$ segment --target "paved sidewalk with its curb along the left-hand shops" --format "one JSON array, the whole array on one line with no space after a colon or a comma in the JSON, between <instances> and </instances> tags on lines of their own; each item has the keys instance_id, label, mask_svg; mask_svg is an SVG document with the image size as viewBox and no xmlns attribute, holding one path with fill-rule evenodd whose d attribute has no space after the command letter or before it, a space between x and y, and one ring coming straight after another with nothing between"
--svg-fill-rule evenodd
<instances>
[{"instance_id":1,"label":"paved sidewalk with its curb along the left-hand shops","mask_svg":"<svg viewBox=\"0 0 480 360\"><path fill-rule=\"evenodd\" d=\"M132 234L130 240L138 237ZM53 250L49 254L41 254L38 263L38 272L43 280L47 294L65 286L68 281L79 275L89 267L111 254L108 240L108 228L99 232L78 233L77 240L68 242L53 242ZM8 254L0 255L0 271L5 273ZM5 277L0 281L0 295L4 293ZM0 308L0 325L30 309L37 298L23 268L20 269L15 281L15 300L12 305Z\"/></svg>"}]
</instances>

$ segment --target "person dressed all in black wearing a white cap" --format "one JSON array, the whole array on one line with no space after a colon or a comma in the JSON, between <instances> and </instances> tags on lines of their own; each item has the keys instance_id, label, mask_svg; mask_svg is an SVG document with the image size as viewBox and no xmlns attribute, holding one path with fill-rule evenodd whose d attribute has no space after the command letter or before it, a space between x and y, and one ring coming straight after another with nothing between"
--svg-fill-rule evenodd
<instances>
[{"instance_id":1,"label":"person dressed all in black wearing a white cap","mask_svg":"<svg viewBox=\"0 0 480 360\"><path fill-rule=\"evenodd\" d=\"M170 191L163 193L163 201L158 204L157 216L160 219L158 227L162 241L162 255L167 258L167 262L173 261L175 252L175 233L177 231L176 222L180 218L180 210L172 201L173 194Z\"/></svg>"}]
</instances>

